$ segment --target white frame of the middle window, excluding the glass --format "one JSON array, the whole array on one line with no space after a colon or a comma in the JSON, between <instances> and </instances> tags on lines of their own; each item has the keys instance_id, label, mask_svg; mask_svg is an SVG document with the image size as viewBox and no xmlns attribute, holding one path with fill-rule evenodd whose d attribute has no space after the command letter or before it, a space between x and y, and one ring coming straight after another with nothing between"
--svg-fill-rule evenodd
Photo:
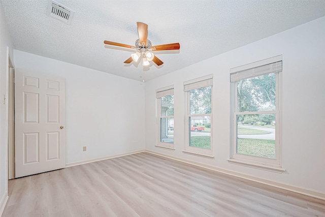
<instances>
[{"instance_id":1,"label":"white frame of the middle window, excluding the glass","mask_svg":"<svg viewBox=\"0 0 325 217\"><path fill-rule=\"evenodd\" d=\"M186 85L190 85L190 89L186 88ZM211 113L209 114L190 114L190 90L192 89L199 89L202 87L211 86ZM185 112L185 144L184 150L185 153L196 154L197 156L206 157L206 158L214 158L213 156L213 74L203 76L200 78L192 79L189 81L184 82L184 93L185 93L185 102L186 102L186 112ZM190 137L190 122L189 117L195 116L209 116L210 117L210 124L211 124L211 131L210 131L210 149L206 148L199 148L199 147L192 147L189 145L189 137Z\"/></svg>"}]
</instances>

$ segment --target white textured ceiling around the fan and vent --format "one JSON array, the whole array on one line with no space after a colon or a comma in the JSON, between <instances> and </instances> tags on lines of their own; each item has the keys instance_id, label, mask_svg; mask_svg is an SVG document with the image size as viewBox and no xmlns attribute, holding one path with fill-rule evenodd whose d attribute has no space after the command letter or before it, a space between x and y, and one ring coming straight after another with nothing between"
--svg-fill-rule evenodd
<instances>
[{"instance_id":1,"label":"white textured ceiling around the fan and vent","mask_svg":"<svg viewBox=\"0 0 325 217\"><path fill-rule=\"evenodd\" d=\"M99 1L57 0L75 11L68 25L46 15L46 0L1 0L15 49L128 77L150 80L325 16L325 1ZM156 55L164 65L123 64L137 21L152 45L180 43ZM160 52L160 53L158 53Z\"/></svg>"}]
</instances>

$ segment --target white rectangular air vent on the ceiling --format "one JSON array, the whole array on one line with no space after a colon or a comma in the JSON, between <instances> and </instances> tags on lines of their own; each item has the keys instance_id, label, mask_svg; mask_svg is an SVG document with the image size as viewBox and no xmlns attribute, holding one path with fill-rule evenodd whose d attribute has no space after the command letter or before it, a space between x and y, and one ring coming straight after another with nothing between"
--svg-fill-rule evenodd
<instances>
[{"instance_id":1,"label":"white rectangular air vent on the ceiling","mask_svg":"<svg viewBox=\"0 0 325 217\"><path fill-rule=\"evenodd\" d=\"M71 9L61 4L58 4L57 2L54 1L48 2L46 14L50 17L53 17L55 19L61 20L62 22L70 24L74 13L75 12L72 11Z\"/></svg>"}]
</instances>

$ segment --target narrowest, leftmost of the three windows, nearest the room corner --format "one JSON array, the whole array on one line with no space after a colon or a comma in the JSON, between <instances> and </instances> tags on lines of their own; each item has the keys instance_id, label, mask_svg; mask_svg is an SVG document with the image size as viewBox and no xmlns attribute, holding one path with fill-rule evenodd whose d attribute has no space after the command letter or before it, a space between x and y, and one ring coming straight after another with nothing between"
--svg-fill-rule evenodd
<instances>
[{"instance_id":1,"label":"narrowest, leftmost of the three windows, nearest the room corner","mask_svg":"<svg viewBox=\"0 0 325 217\"><path fill-rule=\"evenodd\" d=\"M156 90L158 147L174 149L174 85Z\"/></svg>"}]
</instances>

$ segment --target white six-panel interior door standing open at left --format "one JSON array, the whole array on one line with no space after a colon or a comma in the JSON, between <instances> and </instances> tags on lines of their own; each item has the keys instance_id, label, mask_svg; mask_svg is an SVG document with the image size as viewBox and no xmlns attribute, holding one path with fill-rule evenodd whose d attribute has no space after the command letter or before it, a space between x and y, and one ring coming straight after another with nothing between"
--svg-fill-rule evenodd
<instances>
[{"instance_id":1,"label":"white six-panel interior door standing open at left","mask_svg":"<svg viewBox=\"0 0 325 217\"><path fill-rule=\"evenodd\" d=\"M65 81L15 70L15 177L66 166Z\"/></svg>"}]
</instances>

